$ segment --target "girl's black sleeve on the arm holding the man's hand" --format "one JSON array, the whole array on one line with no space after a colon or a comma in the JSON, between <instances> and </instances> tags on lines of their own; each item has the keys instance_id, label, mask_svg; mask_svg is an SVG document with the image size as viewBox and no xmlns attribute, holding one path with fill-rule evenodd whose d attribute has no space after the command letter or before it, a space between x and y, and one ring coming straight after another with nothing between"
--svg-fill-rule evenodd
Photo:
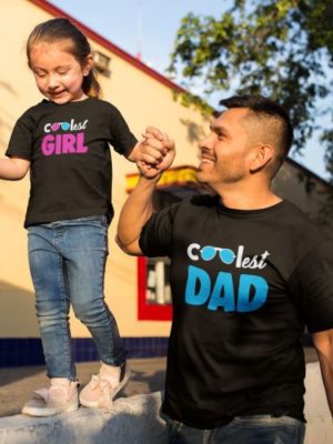
<instances>
[{"instance_id":1,"label":"girl's black sleeve on the arm holding the man's hand","mask_svg":"<svg viewBox=\"0 0 333 444\"><path fill-rule=\"evenodd\" d=\"M118 153L124 155L130 154L138 142L121 112L117 108L113 108L112 112L110 142Z\"/></svg>"}]
</instances>

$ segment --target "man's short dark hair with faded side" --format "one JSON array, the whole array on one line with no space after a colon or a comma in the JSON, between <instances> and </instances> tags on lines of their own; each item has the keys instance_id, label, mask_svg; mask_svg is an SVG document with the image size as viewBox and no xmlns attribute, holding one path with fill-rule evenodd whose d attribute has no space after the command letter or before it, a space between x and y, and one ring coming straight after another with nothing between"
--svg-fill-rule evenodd
<instances>
[{"instance_id":1,"label":"man's short dark hair with faded side","mask_svg":"<svg viewBox=\"0 0 333 444\"><path fill-rule=\"evenodd\" d=\"M280 140L276 142L281 151L280 160L282 163L293 143L293 127L287 112L280 104L262 95L233 95L221 100L220 104L228 109L248 108L254 117L279 120L281 130Z\"/></svg>"}]
</instances>

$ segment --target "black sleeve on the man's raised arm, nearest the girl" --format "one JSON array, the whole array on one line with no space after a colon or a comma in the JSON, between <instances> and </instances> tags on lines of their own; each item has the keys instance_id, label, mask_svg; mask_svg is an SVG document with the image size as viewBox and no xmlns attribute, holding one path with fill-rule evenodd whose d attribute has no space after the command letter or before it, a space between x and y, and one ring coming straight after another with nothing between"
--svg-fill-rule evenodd
<instances>
[{"instance_id":1,"label":"black sleeve on the man's raised arm, nearest the girl","mask_svg":"<svg viewBox=\"0 0 333 444\"><path fill-rule=\"evenodd\" d=\"M140 235L140 248L149 258L171 256L173 223L179 204L175 203L154 213L143 226Z\"/></svg>"}]
</instances>

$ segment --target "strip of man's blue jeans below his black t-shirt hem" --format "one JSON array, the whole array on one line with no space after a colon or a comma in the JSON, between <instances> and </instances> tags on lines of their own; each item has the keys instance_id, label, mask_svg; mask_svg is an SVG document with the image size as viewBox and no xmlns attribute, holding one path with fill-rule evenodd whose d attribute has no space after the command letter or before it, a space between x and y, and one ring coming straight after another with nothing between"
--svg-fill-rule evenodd
<instances>
[{"instance_id":1,"label":"strip of man's blue jeans below his black t-shirt hem","mask_svg":"<svg viewBox=\"0 0 333 444\"><path fill-rule=\"evenodd\" d=\"M290 416L239 416L218 428L200 430L168 420L168 444L302 444L305 424Z\"/></svg>"}]
</instances>

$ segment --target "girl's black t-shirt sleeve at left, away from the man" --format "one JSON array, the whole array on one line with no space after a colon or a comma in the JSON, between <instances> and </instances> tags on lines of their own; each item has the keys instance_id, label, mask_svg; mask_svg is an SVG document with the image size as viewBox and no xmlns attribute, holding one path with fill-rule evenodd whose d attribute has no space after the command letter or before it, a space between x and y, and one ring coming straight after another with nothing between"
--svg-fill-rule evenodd
<instances>
[{"instance_id":1,"label":"girl's black t-shirt sleeve at left, away from the man","mask_svg":"<svg viewBox=\"0 0 333 444\"><path fill-rule=\"evenodd\" d=\"M9 144L6 151L6 155L18 157L26 160L32 159L32 145L33 145L33 133L34 122L32 117L26 112L17 121Z\"/></svg>"}]
</instances>

